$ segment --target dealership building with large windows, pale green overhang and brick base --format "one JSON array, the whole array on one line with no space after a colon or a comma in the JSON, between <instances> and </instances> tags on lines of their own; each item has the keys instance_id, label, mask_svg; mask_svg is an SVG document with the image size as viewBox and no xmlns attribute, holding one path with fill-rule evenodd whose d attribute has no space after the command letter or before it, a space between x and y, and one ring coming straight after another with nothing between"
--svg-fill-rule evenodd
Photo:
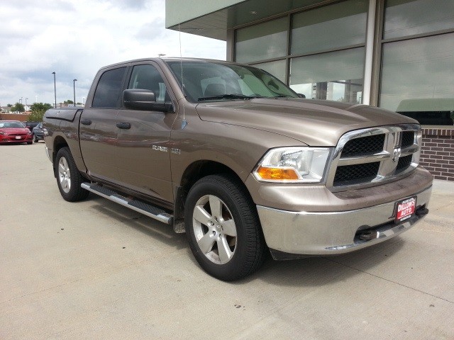
<instances>
[{"instance_id":1,"label":"dealership building with large windows, pale green overhang and brick base","mask_svg":"<svg viewBox=\"0 0 454 340\"><path fill-rule=\"evenodd\" d=\"M166 0L166 27L226 40L226 59L307 98L423 125L421 164L454 181L453 0Z\"/></svg>"}]
</instances>

